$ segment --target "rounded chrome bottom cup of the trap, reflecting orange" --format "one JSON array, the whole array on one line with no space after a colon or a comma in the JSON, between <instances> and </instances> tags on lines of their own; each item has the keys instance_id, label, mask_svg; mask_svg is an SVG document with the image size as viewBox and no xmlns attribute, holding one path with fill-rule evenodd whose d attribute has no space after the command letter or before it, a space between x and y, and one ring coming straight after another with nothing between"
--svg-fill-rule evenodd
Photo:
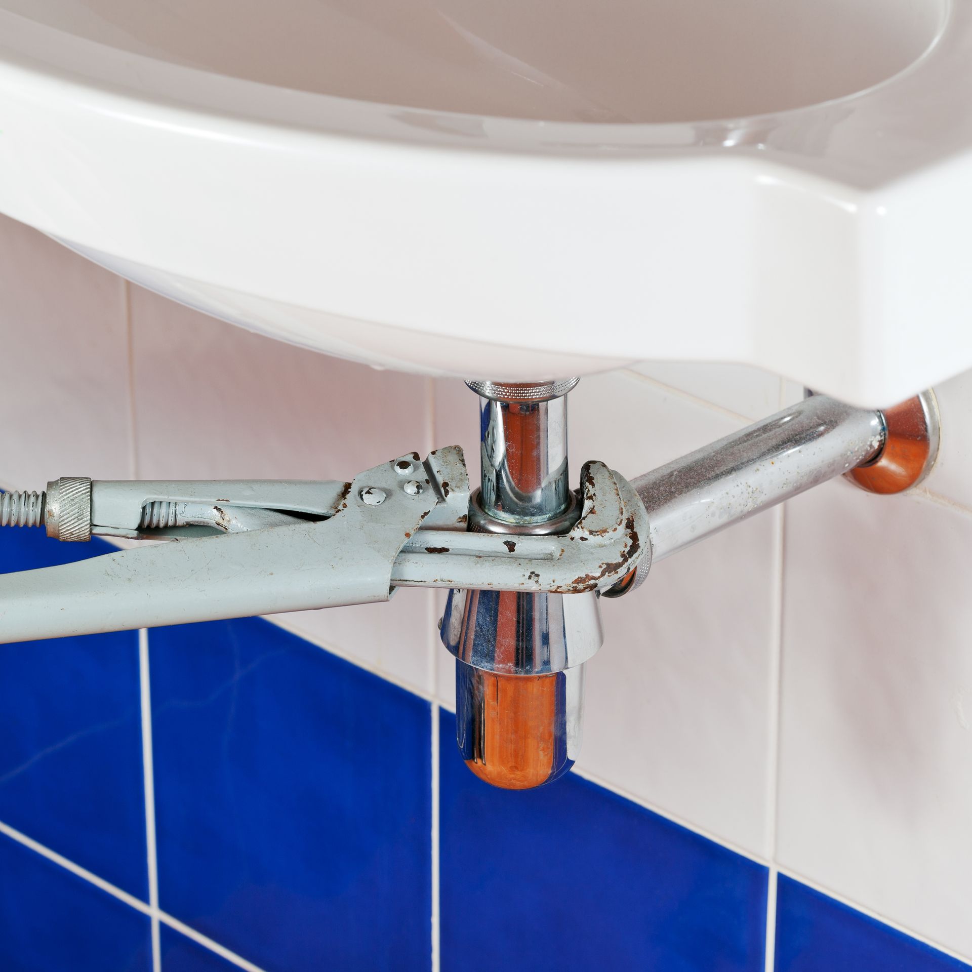
<instances>
[{"instance_id":1,"label":"rounded chrome bottom cup of the trap, reflecting orange","mask_svg":"<svg viewBox=\"0 0 972 972\"><path fill-rule=\"evenodd\" d=\"M456 741L480 780L530 789L564 776L580 751L582 666L504 676L456 659Z\"/></svg>"}]
</instances>

